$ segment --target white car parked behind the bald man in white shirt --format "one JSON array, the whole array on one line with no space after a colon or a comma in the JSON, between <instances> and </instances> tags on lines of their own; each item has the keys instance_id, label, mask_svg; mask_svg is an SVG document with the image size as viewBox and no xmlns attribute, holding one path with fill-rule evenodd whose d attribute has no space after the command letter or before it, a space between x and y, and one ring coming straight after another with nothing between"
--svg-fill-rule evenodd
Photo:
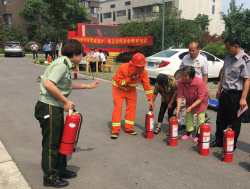
<instances>
[{"instance_id":1,"label":"white car parked behind the bald man in white shirt","mask_svg":"<svg viewBox=\"0 0 250 189\"><path fill-rule=\"evenodd\" d=\"M205 51L200 51L207 56L209 64L208 78L218 78L221 75L221 68L224 61L209 54ZM181 60L185 55L189 53L188 49L169 49L160 51L152 56L146 58L146 70L148 77L151 80L155 80L157 76L162 73L166 75L172 75L178 80L180 72Z\"/></svg>"}]
</instances>

